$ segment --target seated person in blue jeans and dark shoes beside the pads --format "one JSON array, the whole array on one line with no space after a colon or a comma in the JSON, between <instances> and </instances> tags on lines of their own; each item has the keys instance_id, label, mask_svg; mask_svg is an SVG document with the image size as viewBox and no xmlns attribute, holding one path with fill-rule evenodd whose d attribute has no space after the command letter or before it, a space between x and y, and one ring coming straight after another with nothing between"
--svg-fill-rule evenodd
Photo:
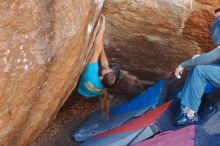
<instances>
[{"instance_id":1,"label":"seated person in blue jeans and dark shoes beside the pads","mask_svg":"<svg viewBox=\"0 0 220 146\"><path fill-rule=\"evenodd\" d=\"M211 39L216 46L215 49L184 61L176 68L175 75L177 78L181 77L184 68L191 68L179 95L182 112L175 120L176 126L186 126L198 121L197 111L206 84L210 83L220 87L220 8L215 10Z\"/></svg>"}]
</instances>

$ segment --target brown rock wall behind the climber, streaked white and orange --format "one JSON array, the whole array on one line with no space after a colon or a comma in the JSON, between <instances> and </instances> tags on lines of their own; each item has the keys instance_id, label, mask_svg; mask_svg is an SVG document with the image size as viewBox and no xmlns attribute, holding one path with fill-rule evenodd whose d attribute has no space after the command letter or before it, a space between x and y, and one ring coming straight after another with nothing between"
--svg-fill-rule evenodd
<instances>
[{"instance_id":1,"label":"brown rock wall behind the climber, streaked white and orange","mask_svg":"<svg viewBox=\"0 0 220 146\"><path fill-rule=\"evenodd\" d=\"M219 0L106 0L107 53L142 79L167 77L181 61L212 49L218 7Z\"/></svg>"}]
</instances>

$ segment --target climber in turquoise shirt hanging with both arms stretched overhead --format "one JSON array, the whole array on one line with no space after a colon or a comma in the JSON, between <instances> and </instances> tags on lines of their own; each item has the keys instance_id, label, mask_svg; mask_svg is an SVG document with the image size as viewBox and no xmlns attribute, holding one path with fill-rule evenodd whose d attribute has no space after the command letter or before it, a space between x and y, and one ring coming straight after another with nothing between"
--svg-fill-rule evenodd
<instances>
[{"instance_id":1,"label":"climber in turquoise shirt hanging with both arms stretched overhead","mask_svg":"<svg viewBox=\"0 0 220 146\"><path fill-rule=\"evenodd\" d=\"M105 31L105 17L101 16L101 25L94 42L89 63L82 74L78 93L86 98L99 96L103 115L108 118L110 100L107 88L112 88L119 80L120 69L118 66L110 68L103 46L103 36Z\"/></svg>"}]
</instances>

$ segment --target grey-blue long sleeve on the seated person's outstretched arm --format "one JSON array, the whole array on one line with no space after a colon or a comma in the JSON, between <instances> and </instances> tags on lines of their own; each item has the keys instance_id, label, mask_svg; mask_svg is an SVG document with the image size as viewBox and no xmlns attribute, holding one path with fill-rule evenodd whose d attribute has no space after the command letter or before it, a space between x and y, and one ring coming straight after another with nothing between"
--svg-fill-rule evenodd
<instances>
[{"instance_id":1,"label":"grey-blue long sleeve on the seated person's outstretched arm","mask_svg":"<svg viewBox=\"0 0 220 146\"><path fill-rule=\"evenodd\" d=\"M182 62L180 65L183 68L193 67L195 65L219 64L220 65L220 48L215 48L212 51L202 54L194 59L189 59Z\"/></svg>"}]
</instances>

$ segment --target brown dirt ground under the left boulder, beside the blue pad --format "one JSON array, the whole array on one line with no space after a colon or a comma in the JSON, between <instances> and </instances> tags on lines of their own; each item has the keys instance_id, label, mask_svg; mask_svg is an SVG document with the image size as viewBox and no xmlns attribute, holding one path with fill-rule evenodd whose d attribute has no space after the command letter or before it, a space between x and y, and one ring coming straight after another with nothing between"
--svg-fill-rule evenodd
<instances>
[{"instance_id":1,"label":"brown dirt ground under the left boulder, beside the blue pad","mask_svg":"<svg viewBox=\"0 0 220 146\"><path fill-rule=\"evenodd\" d=\"M125 97L112 96L112 105L125 101ZM30 146L78 146L71 139L72 133L98 108L97 99L85 99L73 93L50 126Z\"/></svg>"}]
</instances>

